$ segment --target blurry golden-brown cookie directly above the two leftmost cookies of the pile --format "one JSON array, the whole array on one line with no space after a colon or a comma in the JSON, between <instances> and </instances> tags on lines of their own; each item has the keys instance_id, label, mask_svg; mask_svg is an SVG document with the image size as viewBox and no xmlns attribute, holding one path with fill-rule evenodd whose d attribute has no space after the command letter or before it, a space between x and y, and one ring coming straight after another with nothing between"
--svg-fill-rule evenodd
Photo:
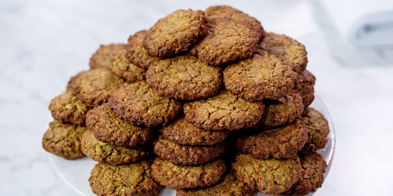
<instances>
[{"instance_id":1,"label":"blurry golden-brown cookie directly above the two leftmost cookies of the pile","mask_svg":"<svg viewBox=\"0 0 393 196\"><path fill-rule=\"evenodd\" d=\"M97 68L72 77L70 89L85 105L93 107L107 102L110 94L123 83L110 70Z\"/></svg>"}]
</instances>

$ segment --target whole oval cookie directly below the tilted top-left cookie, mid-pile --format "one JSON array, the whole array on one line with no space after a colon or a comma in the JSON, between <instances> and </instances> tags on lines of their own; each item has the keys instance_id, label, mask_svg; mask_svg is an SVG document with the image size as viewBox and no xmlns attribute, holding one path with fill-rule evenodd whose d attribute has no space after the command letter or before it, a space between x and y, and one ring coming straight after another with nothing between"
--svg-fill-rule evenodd
<instances>
[{"instance_id":1,"label":"whole oval cookie directly below the tilted top-left cookie, mid-pile","mask_svg":"<svg viewBox=\"0 0 393 196\"><path fill-rule=\"evenodd\" d=\"M221 69L204 64L195 56L183 55L159 60L146 73L146 83L159 96L174 99L204 99L217 94Z\"/></svg>"}]
</instances>

